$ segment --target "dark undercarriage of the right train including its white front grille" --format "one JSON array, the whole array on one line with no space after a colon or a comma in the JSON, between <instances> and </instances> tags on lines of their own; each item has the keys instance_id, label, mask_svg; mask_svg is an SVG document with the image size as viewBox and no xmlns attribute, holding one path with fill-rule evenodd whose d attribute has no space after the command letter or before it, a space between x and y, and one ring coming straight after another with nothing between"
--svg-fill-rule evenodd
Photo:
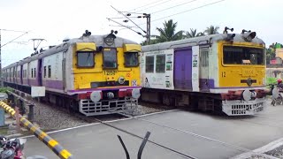
<instances>
[{"instance_id":1,"label":"dark undercarriage of the right train including its white front grille","mask_svg":"<svg viewBox=\"0 0 283 159\"><path fill-rule=\"evenodd\" d=\"M161 103L186 110L202 110L227 116L254 115L264 110L265 97L246 102L226 100L220 94L195 93L183 90L142 88L142 102Z\"/></svg>"}]
</instances>

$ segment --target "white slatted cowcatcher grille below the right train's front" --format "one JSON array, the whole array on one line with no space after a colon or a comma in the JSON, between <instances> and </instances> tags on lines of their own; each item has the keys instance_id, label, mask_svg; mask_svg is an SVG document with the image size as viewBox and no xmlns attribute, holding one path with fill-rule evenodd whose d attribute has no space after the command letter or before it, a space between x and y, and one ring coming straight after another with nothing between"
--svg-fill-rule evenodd
<instances>
[{"instance_id":1,"label":"white slatted cowcatcher grille below the right train's front","mask_svg":"<svg viewBox=\"0 0 283 159\"><path fill-rule=\"evenodd\" d=\"M266 103L265 98L256 98L254 101L222 101L222 110L228 116L255 115L257 112L264 110Z\"/></svg>"}]
</instances>

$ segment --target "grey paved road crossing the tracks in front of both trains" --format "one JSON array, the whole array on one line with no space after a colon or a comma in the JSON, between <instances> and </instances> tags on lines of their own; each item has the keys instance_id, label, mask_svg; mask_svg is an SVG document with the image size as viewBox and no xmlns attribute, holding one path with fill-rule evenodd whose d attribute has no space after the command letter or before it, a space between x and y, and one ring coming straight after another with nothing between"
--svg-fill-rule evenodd
<instances>
[{"instance_id":1,"label":"grey paved road crossing the tracks in front of both trains","mask_svg":"<svg viewBox=\"0 0 283 159\"><path fill-rule=\"evenodd\" d=\"M186 155L204 159L219 159L240 155L247 149L256 149L273 140L282 138L283 116L281 112L283 112L283 106L267 107L264 112L256 117L219 117L205 113L175 110L139 117L152 123L144 120L127 119L110 124L142 137L149 131L151 132L149 140ZM154 123L180 129L183 132ZM184 131L197 133L226 142L226 144L197 138ZM142 140L119 132L107 125L89 125L64 132L51 133L50 136L58 140L76 158L126 158L117 134L121 135L125 141L131 158L136 158ZM49 158L57 158L49 148L36 138L28 138L25 149L27 155L45 155ZM172 159L184 158L184 156L148 142L142 158Z\"/></svg>"}]
</instances>

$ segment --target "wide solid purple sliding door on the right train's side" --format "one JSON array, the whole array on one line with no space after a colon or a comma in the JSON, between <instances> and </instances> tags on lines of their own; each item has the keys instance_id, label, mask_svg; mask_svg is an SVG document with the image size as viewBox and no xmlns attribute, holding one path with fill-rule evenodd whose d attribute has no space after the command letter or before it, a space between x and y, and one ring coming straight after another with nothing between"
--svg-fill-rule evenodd
<instances>
[{"instance_id":1,"label":"wide solid purple sliding door on the right train's side","mask_svg":"<svg viewBox=\"0 0 283 159\"><path fill-rule=\"evenodd\" d=\"M173 79L176 89L192 89L192 48L175 50Z\"/></svg>"}]
</instances>

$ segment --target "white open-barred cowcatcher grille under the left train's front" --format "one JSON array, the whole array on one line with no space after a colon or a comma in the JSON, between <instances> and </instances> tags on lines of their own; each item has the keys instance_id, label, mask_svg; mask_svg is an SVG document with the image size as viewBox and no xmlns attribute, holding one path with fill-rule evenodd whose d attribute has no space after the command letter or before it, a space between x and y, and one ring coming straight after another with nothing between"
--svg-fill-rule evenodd
<instances>
[{"instance_id":1,"label":"white open-barred cowcatcher grille under the left train's front","mask_svg":"<svg viewBox=\"0 0 283 159\"><path fill-rule=\"evenodd\" d=\"M80 113L86 116L97 116L112 113L131 111L138 106L138 100L125 97L124 99L92 102L91 100L80 100Z\"/></svg>"}]
</instances>

